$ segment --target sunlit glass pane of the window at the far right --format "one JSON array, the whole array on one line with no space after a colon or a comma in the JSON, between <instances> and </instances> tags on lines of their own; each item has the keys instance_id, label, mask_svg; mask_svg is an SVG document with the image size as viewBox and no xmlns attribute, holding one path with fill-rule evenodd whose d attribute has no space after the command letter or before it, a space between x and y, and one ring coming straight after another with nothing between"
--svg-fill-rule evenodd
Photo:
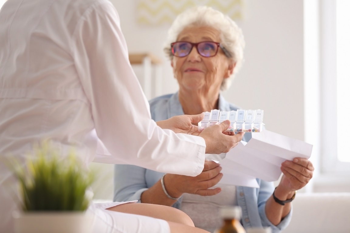
<instances>
[{"instance_id":1,"label":"sunlit glass pane of the window at the far right","mask_svg":"<svg viewBox=\"0 0 350 233\"><path fill-rule=\"evenodd\" d=\"M337 156L350 162L350 1L336 2ZM327 129L328 130L328 129Z\"/></svg>"}]
</instances>

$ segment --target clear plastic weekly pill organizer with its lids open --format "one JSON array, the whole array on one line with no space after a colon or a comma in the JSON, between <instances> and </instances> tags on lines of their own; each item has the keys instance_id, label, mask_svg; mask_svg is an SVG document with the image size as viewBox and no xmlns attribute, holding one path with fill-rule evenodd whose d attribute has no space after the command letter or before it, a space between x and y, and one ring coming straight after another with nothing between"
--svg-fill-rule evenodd
<instances>
[{"instance_id":1,"label":"clear plastic weekly pill organizer with its lids open","mask_svg":"<svg viewBox=\"0 0 350 233\"><path fill-rule=\"evenodd\" d=\"M225 120L230 121L230 128L226 132L261 132L264 110L220 111L213 109L210 112L203 112L204 118L198 123L199 131L203 131L210 125L220 124Z\"/></svg>"}]
</instances>

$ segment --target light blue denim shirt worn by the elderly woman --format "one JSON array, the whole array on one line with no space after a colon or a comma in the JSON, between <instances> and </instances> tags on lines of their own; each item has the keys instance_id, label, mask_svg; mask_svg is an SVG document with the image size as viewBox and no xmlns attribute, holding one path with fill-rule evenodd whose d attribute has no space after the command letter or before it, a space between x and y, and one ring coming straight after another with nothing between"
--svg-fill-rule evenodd
<instances>
[{"instance_id":1,"label":"light blue denim shirt worn by the elderly woman","mask_svg":"<svg viewBox=\"0 0 350 233\"><path fill-rule=\"evenodd\" d=\"M173 116L183 115L178 93L163 95L149 101L151 116L154 121L162 121ZM237 110L238 107L227 102L219 95L219 109ZM245 133L243 140L251 139L251 133ZM114 167L114 201L124 202L141 199L141 194L158 182L164 173L155 172L134 165L115 165ZM242 208L241 223L244 228L271 227L273 233L286 228L292 218L292 210L277 226L266 217L265 204L274 190L273 182L257 179L260 188L236 187L237 202ZM180 209L181 198L173 207Z\"/></svg>"}]
</instances>

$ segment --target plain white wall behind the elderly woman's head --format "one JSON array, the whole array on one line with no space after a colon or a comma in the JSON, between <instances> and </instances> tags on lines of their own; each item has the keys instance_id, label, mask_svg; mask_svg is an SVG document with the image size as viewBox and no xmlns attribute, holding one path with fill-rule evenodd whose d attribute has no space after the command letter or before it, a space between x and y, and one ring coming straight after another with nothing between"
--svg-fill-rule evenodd
<instances>
[{"instance_id":1,"label":"plain white wall behind the elderly woman's head","mask_svg":"<svg viewBox=\"0 0 350 233\"><path fill-rule=\"evenodd\" d=\"M169 26L140 26L136 0L111 1L129 51L162 58L162 94L175 92L178 85L162 51ZM268 130L304 140L303 1L245 0L244 11L237 23L246 40L245 63L223 94L241 108L263 109Z\"/></svg>"}]
</instances>

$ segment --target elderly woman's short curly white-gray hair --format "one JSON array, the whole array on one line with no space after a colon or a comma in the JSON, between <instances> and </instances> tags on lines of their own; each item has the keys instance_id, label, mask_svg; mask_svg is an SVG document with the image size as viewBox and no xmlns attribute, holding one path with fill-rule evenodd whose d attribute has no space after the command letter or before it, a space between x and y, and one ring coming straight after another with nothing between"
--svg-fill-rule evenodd
<instances>
[{"instance_id":1,"label":"elderly woman's short curly white-gray hair","mask_svg":"<svg viewBox=\"0 0 350 233\"><path fill-rule=\"evenodd\" d=\"M178 15L172 26L170 26L168 37L163 46L164 52L167 57L172 60L173 54L170 44L177 40L177 37L183 29L187 27L202 26L212 27L220 32L220 39L221 44L224 47L224 53L226 56L230 54L231 59L236 63L230 78L224 79L221 84L220 89L227 90L231 86L232 79L235 77L243 63L243 49L245 46L242 30L229 16L208 6L197 6L187 9Z\"/></svg>"}]
</instances>

